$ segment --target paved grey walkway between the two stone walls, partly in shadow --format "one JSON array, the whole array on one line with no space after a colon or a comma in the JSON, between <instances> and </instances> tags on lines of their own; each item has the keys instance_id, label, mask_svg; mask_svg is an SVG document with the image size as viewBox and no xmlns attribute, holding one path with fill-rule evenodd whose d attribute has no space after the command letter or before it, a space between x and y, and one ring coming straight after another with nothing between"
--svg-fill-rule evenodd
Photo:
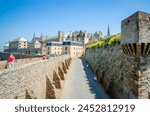
<instances>
[{"instance_id":1,"label":"paved grey walkway between the two stone walls, partly in shadow","mask_svg":"<svg viewBox=\"0 0 150 116\"><path fill-rule=\"evenodd\" d=\"M61 99L107 99L84 60L73 58Z\"/></svg>"}]
</instances>

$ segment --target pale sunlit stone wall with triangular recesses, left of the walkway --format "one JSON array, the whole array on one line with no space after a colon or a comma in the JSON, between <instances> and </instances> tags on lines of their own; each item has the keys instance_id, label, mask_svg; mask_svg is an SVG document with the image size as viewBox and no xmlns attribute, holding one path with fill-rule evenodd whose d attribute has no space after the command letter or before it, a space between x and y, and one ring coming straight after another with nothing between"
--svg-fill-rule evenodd
<instances>
[{"instance_id":1,"label":"pale sunlit stone wall with triangular recesses, left of the walkway","mask_svg":"<svg viewBox=\"0 0 150 116\"><path fill-rule=\"evenodd\" d=\"M69 56L61 56L2 70L0 72L0 98L59 98L60 94L54 93L57 88L53 85L53 73L55 71L57 74L58 67L62 68L62 62L68 58ZM60 80L59 76L57 79L63 86L63 80Z\"/></svg>"}]
</instances>

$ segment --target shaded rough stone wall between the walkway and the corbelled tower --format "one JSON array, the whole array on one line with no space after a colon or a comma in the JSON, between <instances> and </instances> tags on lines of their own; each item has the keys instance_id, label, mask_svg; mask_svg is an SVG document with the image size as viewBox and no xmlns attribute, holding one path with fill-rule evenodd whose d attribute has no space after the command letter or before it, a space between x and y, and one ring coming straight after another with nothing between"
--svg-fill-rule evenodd
<instances>
[{"instance_id":1,"label":"shaded rough stone wall between the walkway and the corbelled tower","mask_svg":"<svg viewBox=\"0 0 150 116\"><path fill-rule=\"evenodd\" d=\"M88 49L86 59L97 75L98 81L112 98L136 98L131 90L134 85L125 78L125 61L120 46L108 49ZM130 62L127 61L126 64L128 63ZM127 71L129 72L129 70Z\"/></svg>"}]
</instances>

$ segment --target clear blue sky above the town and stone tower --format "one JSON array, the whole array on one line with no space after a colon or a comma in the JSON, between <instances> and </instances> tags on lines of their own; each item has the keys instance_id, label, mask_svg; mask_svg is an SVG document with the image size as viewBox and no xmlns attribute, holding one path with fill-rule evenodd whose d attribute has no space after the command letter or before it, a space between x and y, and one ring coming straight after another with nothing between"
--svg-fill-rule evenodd
<instances>
[{"instance_id":1,"label":"clear blue sky above the town and stone tower","mask_svg":"<svg viewBox=\"0 0 150 116\"><path fill-rule=\"evenodd\" d=\"M54 36L57 31L119 33L121 20L136 11L150 13L149 0L0 0L0 51L17 37Z\"/></svg>"}]
</instances>

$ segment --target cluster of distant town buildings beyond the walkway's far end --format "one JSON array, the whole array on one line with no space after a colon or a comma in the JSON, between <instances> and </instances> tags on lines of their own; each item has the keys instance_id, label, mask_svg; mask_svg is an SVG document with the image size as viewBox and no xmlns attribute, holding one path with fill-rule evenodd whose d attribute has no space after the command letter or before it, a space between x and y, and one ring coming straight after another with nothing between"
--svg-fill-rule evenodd
<instances>
[{"instance_id":1,"label":"cluster of distant town buildings beyond the walkway's far end","mask_svg":"<svg viewBox=\"0 0 150 116\"><path fill-rule=\"evenodd\" d=\"M86 31L75 31L66 35L58 31L56 36L37 37L35 33L31 42L19 37L4 45L4 52L30 55L70 54L72 57L80 57L84 53L84 45L93 43L102 38L102 33L87 33Z\"/></svg>"}]
</instances>

